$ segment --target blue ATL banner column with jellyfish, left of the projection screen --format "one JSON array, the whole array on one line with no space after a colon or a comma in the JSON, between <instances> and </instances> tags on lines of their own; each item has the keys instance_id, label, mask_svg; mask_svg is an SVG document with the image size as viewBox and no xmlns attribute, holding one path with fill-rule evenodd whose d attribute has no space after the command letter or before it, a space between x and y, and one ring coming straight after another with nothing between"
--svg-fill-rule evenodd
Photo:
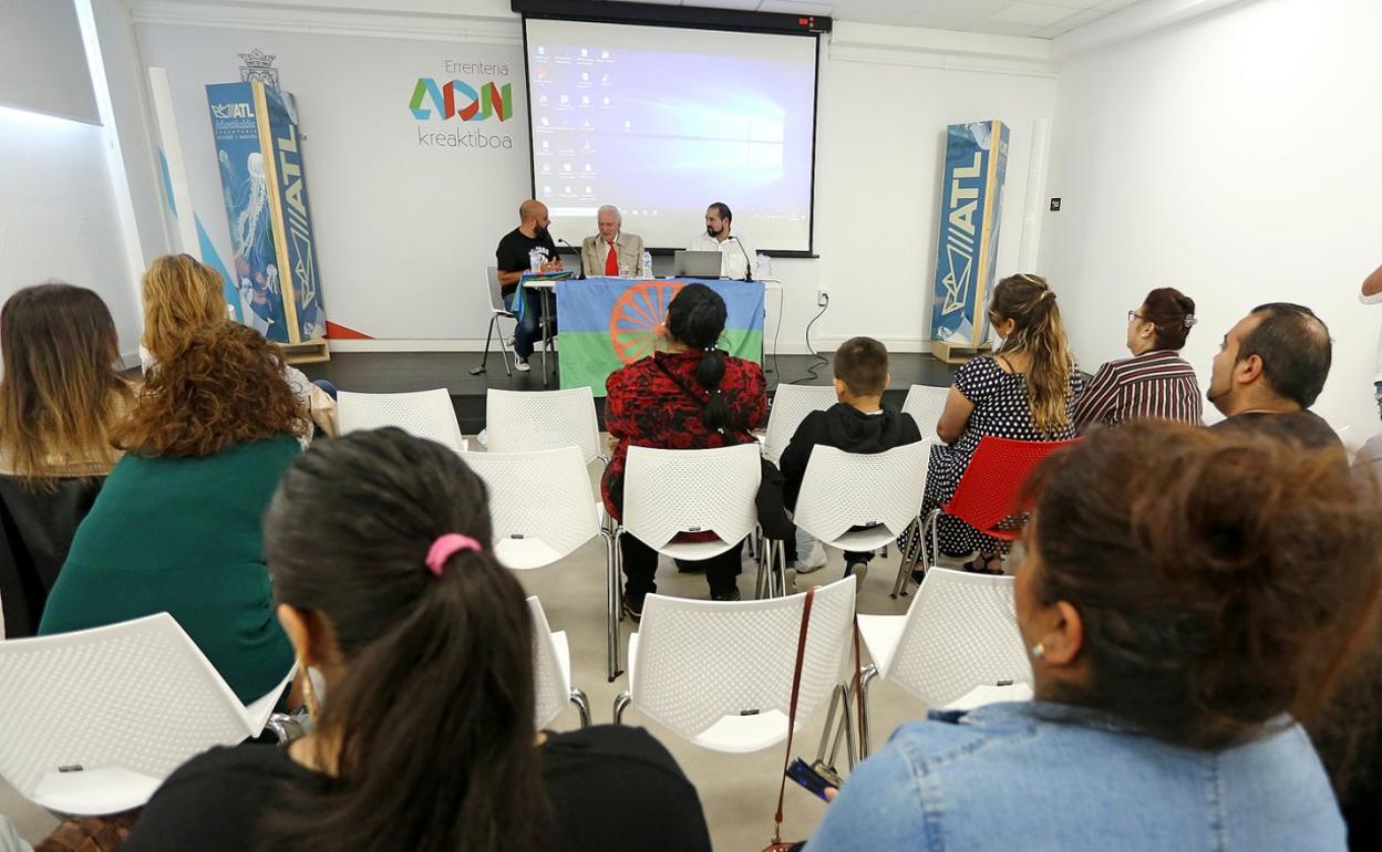
<instances>
[{"instance_id":1,"label":"blue ATL banner column with jellyfish, left of the projection screen","mask_svg":"<svg viewBox=\"0 0 1382 852\"><path fill-rule=\"evenodd\" d=\"M292 95L263 83L206 87L231 225L240 322L276 342L326 336Z\"/></svg>"}]
</instances>

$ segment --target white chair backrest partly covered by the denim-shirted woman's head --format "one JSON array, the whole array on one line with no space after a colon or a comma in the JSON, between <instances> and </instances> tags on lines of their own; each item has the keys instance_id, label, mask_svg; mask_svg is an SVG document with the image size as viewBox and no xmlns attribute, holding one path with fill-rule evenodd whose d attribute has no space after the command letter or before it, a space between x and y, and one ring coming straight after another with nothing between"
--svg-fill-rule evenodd
<instances>
[{"instance_id":1,"label":"white chair backrest partly covered by the denim-shirted woman's head","mask_svg":"<svg viewBox=\"0 0 1382 852\"><path fill-rule=\"evenodd\" d=\"M884 679L927 707L944 707L976 686L1032 682L1017 632L1013 577L945 568L926 572Z\"/></svg>"}]
</instances>

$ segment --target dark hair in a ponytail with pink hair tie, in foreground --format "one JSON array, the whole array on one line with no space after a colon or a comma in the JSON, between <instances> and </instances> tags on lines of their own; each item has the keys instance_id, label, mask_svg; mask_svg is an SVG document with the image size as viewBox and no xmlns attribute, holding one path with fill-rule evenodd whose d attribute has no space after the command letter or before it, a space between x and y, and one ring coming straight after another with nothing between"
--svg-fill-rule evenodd
<instances>
[{"instance_id":1,"label":"dark hair in a ponytail with pink hair tie, in foreground","mask_svg":"<svg viewBox=\"0 0 1382 852\"><path fill-rule=\"evenodd\" d=\"M264 848L546 848L532 624L481 479L441 445L355 432L293 464L264 525L275 594L341 657L316 719L334 779L285 791ZM428 558L448 533L474 541Z\"/></svg>"}]
</instances>

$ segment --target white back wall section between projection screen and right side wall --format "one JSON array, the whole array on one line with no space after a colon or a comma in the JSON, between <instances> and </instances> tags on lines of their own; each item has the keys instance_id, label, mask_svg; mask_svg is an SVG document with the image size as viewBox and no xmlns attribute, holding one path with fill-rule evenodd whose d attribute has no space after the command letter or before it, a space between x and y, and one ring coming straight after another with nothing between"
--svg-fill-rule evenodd
<instances>
[{"instance_id":1,"label":"white back wall section between projection screen and right side wall","mask_svg":"<svg viewBox=\"0 0 1382 852\"><path fill-rule=\"evenodd\" d=\"M893 349L920 351L936 278L945 127L988 119L1009 126L998 275L1017 272L1032 124L1052 116L1056 69L1046 44L1032 39L836 28L821 64L820 260L774 261L788 300L784 340L802 340L820 284L831 308L814 342L833 349L868 334Z\"/></svg>"}]
</instances>

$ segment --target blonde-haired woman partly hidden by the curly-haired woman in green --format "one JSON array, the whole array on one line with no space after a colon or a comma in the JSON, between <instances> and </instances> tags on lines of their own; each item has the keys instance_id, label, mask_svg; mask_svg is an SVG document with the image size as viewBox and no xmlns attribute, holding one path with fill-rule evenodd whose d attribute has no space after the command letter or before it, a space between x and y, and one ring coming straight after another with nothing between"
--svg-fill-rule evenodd
<instances>
[{"instance_id":1,"label":"blonde-haired woman partly hidden by the curly-haired woman in green","mask_svg":"<svg viewBox=\"0 0 1382 852\"><path fill-rule=\"evenodd\" d=\"M140 362L145 376L167 360L191 330L229 316L224 286L220 272L191 254L164 254L149 265L141 282L144 340ZM334 434L334 388L312 383L282 359L281 371L303 410L329 435Z\"/></svg>"}]
</instances>

